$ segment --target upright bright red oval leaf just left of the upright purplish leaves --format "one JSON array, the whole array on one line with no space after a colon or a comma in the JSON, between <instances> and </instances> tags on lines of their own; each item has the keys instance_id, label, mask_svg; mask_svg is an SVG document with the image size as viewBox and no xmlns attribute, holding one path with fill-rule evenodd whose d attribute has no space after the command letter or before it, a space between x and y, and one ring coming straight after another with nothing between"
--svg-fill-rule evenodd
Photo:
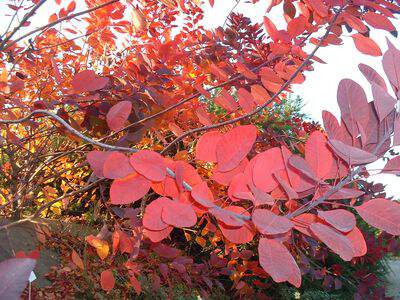
<instances>
[{"instance_id":1,"label":"upright bright red oval leaf just left of the upright purplish leaves","mask_svg":"<svg viewBox=\"0 0 400 300\"><path fill-rule=\"evenodd\" d=\"M333 155L322 132L314 131L310 134L305 146L305 157L318 179L324 179L329 174Z\"/></svg>"}]
</instances>

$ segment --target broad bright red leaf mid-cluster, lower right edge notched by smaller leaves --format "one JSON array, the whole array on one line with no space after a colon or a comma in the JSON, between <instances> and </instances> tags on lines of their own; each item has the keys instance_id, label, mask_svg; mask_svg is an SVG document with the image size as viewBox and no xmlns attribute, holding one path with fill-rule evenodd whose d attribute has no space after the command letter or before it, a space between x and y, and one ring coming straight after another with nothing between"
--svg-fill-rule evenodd
<instances>
[{"instance_id":1,"label":"broad bright red leaf mid-cluster, lower right edge notched by smaller leaves","mask_svg":"<svg viewBox=\"0 0 400 300\"><path fill-rule=\"evenodd\" d=\"M273 173L284 170L281 149L275 147L257 154L253 167L254 185L264 192L271 192L279 183L273 177Z\"/></svg>"}]
</instances>

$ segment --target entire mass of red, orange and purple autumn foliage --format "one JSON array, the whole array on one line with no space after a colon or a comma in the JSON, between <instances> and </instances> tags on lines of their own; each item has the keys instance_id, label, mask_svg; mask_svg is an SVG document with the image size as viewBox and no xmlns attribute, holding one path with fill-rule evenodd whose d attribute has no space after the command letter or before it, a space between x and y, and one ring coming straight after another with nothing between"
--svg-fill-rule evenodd
<instances>
[{"instance_id":1,"label":"entire mass of red, orange and purple autumn foliage","mask_svg":"<svg viewBox=\"0 0 400 300\"><path fill-rule=\"evenodd\" d=\"M45 2L10 1L24 19L0 41L0 211L13 218L0 230L93 207L103 227L70 255L83 274L83 257L98 257L90 280L104 292L141 294L145 276L154 291L181 281L205 297L260 296L269 279L299 288L313 257L361 264L365 224L394 245L400 204L368 185L368 164L385 157L379 172L400 172L400 51L388 41L382 53L369 32L397 34L396 2L269 1L262 24L231 13L208 30L214 1L85 1L80 13L83 1L56 0L47 25L30 28ZM385 74L359 66L372 99L343 79L340 119L323 111L322 130L286 115L277 134L277 107L346 29L382 56ZM0 298L22 292L33 268L13 258L0 278L13 264L22 283Z\"/></svg>"}]
</instances>

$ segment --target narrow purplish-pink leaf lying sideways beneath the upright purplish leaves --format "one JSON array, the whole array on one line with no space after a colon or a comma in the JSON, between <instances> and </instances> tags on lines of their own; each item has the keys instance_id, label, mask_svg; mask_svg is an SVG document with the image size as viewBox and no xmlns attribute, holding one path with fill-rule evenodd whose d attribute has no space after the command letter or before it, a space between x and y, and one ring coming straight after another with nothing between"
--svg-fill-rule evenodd
<instances>
[{"instance_id":1,"label":"narrow purplish-pink leaf lying sideways beneath the upright purplish leaves","mask_svg":"<svg viewBox=\"0 0 400 300\"><path fill-rule=\"evenodd\" d=\"M378 159L372 153L346 145L338 140L329 140L329 145L335 154L349 165L363 165Z\"/></svg>"}]
</instances>

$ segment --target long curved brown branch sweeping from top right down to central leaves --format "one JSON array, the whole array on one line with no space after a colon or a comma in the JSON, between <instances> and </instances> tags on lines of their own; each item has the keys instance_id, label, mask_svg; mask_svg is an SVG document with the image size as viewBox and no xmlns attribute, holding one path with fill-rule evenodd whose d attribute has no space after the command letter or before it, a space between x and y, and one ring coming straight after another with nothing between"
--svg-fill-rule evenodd
<instances>
[{"instance_id":1,"label":"long curved brown branch sweeping from top right down to central leaves","mask_svg":"<svg viewBox=\"0 0 400 300\"><path fill-rule=\"evenodd\" d=\"M249 112L247 114L244 114L244 115L242 115L240 117L237 117L237 118L225 121L225 122L213 124L213 125L210 125L210 126L204 126L204 127L199 127L199 128L195 128L195 129L189 130L189 131L185 132L184 134L180 135L179 137L177 137L175 140L173 140L167 147L164 148L164 150L161 153L165 154L174 144L180 142L181 140L183 140L185 137L187 137L189 135L192 135L192 134L197 133L197 132L207 131L207 130L210 130L210 129L215 129L215 128L219 128L219 127L222 127L222 126L225 126L225 125L233 124L233 123L248 119L248 118L252 117L253 115L261 112L270 103L272 103L276 98L278 98L278 96L292 83L292 81L296 78L296 76L298 74L300 74L300 72L302 72L304 67L314 57L315 53L318 51L318 49L322 46L322 44L325 41L325 39L328 37L329 33L332 30L333 25L335 24L336 20L338 19L339 15L343 11L343 9L346 7L346 5L347 5L347 2L335 14L334 18L332 19L330 25L328 26L328 28L327 28L327 30L325 32L325 34L322 36L322 38L319 41L319 43L315 46L314 50L307 56L307 58L296 69L296 71L292 74L292 76L290 76L290 78L280 87L280 89L269 100L264 102L264 104L262 104L261 106L259 106L256 109L254 109L253 111L251 111L251 112Z\"/></svg>"}]
</instances>

